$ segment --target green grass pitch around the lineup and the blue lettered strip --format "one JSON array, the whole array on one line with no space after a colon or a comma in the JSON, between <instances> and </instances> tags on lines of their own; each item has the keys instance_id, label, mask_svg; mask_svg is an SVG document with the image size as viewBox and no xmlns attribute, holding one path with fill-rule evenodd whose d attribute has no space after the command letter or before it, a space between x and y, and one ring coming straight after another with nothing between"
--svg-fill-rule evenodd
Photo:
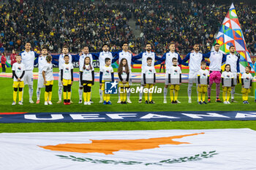
<instances>
[{"instance_id":1,"label":"green grass pitch around the lineup and the blue lettered strip","mask_svg":"<svg viewBox=\"0 0 256 170\"><path fill-rule=\"evenodd\" d=\"M98 70L96 69L96 72ZM116 69L114 70L116 72ZM157 70L158 71L158 70ZM7 68L7 72L11 72ZM37 69L34 69L37 72ZM58 72L54 69L53 72ZM75 69L78 72L78 69ZM132 72L140 72L140 69L134 69ZM182 72L188 72L182 70ZM58 101L58 81L53 84L53 105L44 105L44 91L41 90L40 104L29 104L28 86L24 88L23 106L12 106L12 79L1 78L1 112L154 112L154 111L249 111L255 110L254 93L249 94L249 102L251 104L242 104L241 85L236 87L235 99L236 104L219 104L211 103L207 105L197 104L196 87L192 89L192 104L187 103L187 84L181 85L181 90L178 95L178 100L181 104L170 104L170 98L167 96L167 104L163 104L163 92L161 95L154 96L153 100L156 104L138 104L138 94L131 94L132 104L121 105L117 104L118 95L111 95L110 100L112 105L99 104L99 82L95 82L92 88L91 106L78 104L78 82L72 85L72 101L74 104L64 106L56 104ZM157 83L158 87L163 87L163 83ZM214 86L213 86L214 89ZM34 80L34 96L36 101L37 80ZM211 98L214 100L215 91L212 90ZM222 93L220 94L222 98ZM39 131L119 131L119 130L154 130L154 129L202 129L202 128L251 128L256 130L255 121L206 121L206 122L128 122L128 123L0 123L0 133L4 132L39 132Z\"/></svg>"}]
</instances>

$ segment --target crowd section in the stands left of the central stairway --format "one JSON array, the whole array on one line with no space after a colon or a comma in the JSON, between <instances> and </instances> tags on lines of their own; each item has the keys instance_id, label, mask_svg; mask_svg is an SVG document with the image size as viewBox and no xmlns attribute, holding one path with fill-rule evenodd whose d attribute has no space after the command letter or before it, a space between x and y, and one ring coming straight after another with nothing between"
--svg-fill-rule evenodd
<instances>
[{"instance_id":1,"label":"crowd section in the stands left of the central stairway","mask_svg":"<svg viewBox=\"0 0 256 170\"><path fill-rule=\"evenodd\" d=\"M23 50L26 41L36 51L47 45L55 53L60 53L63 45L70 52L78 52L83 45L99 51L102 42L109 42L116 50L121 42L135 39L127 24L132 9L124 5L26 0L23 4L9 1L0 12L1 46L7 51Z\"/></svg>"}]
</instances>

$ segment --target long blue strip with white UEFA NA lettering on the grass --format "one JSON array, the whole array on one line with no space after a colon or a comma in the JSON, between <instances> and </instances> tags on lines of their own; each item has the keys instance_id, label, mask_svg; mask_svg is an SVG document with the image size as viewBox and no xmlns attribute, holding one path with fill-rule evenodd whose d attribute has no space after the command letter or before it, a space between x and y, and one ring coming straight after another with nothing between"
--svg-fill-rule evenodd
<instances>
[{"instance_id":1,"label":"long blue strip with white UEFA NA lettering on the grass","mask_svg":"<svg viewBox=\"0 0 256 170\"><path fill-rule=\"evenodd\" d=\"M31 112L0 113L0 123L256 120L256 111L237 112Z\"/></svg>"}]
</instances>

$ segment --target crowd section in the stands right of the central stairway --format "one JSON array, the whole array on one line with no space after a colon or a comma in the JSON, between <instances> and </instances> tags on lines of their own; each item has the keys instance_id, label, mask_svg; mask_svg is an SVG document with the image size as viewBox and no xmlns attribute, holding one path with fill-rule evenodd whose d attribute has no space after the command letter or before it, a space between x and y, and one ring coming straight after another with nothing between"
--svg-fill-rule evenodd
<instances>
[{"instance_id":1,"label":"crowd section in the stands right of the central stairway","mask_svg":"<svg viewBox=\"0 0 256 170\"><path fill-rule=\"evenodd\" d=\"M203 52L211 50L214 34L217 34L230 4L214 4L184 1L166 4L165 1L147 4L137 3L134 11L136 27L143 32L143 43L152 42L158 53L167 50L167 43L178 42L179 53L187 53L194 42L200 42ZM256 6L236 5L247 48L255 53Z\"/></svg>"}]
</instances>

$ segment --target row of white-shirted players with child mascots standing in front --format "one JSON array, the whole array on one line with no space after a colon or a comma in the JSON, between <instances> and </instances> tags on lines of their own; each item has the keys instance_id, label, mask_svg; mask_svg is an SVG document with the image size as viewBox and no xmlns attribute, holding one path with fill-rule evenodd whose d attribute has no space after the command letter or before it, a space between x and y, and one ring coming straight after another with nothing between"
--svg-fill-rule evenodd
<instances>
[{"instance_id":1,"label":"row of white-shirted players with child mascots standing in front","mask_svg":"<svg viewBox=\"0 0 256 170\"><path fill-rule=\"evenodd\" d=\"M127 104L132 103L130 100L130 94L135 93L135 90L130 89L132 80L136 80L136 73L132 74L132 62L140 63L141 73L140 77L137 74L138 80L140 80L140 88L136 90L139 92L138 103L142 103L143 94L145 96L145 104L155 104L153 101L153 93L162 93L162 88L154 90L154 85L159 80L165 82L164 92L164 104L167 103L166 96L168 88L170 88L170 101L171 104L179 104L178 91L181 89L180 85L182 79L187 77L181 74L181 64L189 66L189 81L187 88L188 103L192 103L192 85L197 85L197 102L198 104L211 103L211 86L216 84L216 102L222 103L219 98L220 85L222 84L222 98L224 104L236 103L234 96L236 85L241 82L241 93L243 104L249 104L248 96L251 93L252 88L252 67L247 65L244 67L244 73L240 74L240 55L236 53L236 48L230 46L230 53L224 54L219 51L219 44L214 45L214 50L202 54L200 53L199 44L195 43L192 53L182 60L178 53L175 53L175 43L171 42L169 45L170 52L165 53L162 58L159 58L154 52L151 51L151 44L146 44L146 52L132 56L131 51L128 50L128 43L122 44L122 50L118 52L109 52L109 45L102 45L101 53L89 53L89 47L85 46L78 55L70 55L67 46L62 47L62 54L60 55L48 55L47 47L42 47L41 55L31 51L30 42L26 42L26 50L20 55L16 56L17 63L12 66L12 74L14 77L13 82L13 102L16 104L16 98L18 93L18 103L23 104L23 87L29 86L29 102L34 103L33 96L33 69L34 63L38 63L38 81L37 81L37 104L39 104L39 98L41 88L45 88L45 105L53 104L52 88L53 80L53 64L59 66L59 101L62 103L62 96L64 98L64 105L69 105L71 101L71 89L72 83L75 79L79 80L79 103L84 101L85 105L91 105L91 87L94 82L99 80L99 103L112 104L110 101L110 94L117 93L118 91L118 103ZM37 60L35 60L37 58ZM79 59L78 59L79 58ZM138 59L142 59L139 61ZM208 58L208 60L206 60ZM99 60L99 74L95 74L92 61ZM74 74L74 66L72 61L79 61L79 74ZM118 61L119 66L116 74L113 71L112 63ZM166 73L161 75L157 74L154 66L165 61ZM189 61L187 63L187 61ZM225 63L225 70L222 72L222 63ZM180 66L178 66L180 65ZM209 71L206 69L209 66ZM232 70L232 72L231 72ZM18 74L18 75L17 75ZM134 76L135 75L135 76ZM157 81L158 80L158 81ZM114 82L114 84L112 84ZM134 81L136 82L136 81ZM111 84L109 87L108 85ZM113 92L113 88L115 89ZM208 99L206 99L206 93Z\"/></svg>"}]
</instances>

